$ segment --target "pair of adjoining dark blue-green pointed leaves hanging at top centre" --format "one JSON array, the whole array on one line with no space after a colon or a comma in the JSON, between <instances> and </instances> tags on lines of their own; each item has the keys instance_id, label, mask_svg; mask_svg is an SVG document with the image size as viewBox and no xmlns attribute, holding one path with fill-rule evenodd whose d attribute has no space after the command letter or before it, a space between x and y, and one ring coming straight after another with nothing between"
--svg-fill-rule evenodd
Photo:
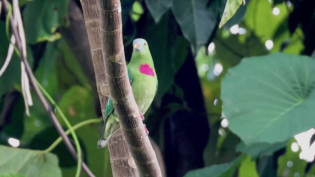
<instances>
[{"instance_id":1,"label":"pair of adjoining dark blue-green pointed leaves hanging at top centre","mask_svg":"<svg viewBox=\"0 0 315 177\"><path fill-rule=\"evenodd\" d=\"M183 36L192 46L193 53L207 43L216 28L216 9L207 6L204 0L145 0L156 23L171 9Z\"/></svg>"}]
</instances>

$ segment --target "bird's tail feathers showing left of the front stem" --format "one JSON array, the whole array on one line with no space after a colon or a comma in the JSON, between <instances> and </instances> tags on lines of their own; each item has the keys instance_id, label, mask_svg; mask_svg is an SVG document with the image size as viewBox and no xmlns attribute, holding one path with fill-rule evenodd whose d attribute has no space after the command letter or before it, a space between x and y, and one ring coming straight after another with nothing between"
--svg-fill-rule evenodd
<instances>
[{"instance_id":1,"label":"bird's tail feathers showing left of the front stem","mask_svg":"<svg viewBox=\"0 0 315 177\"><path fill-rule=\"evenodd\" d=\"M110 137L120 128L117 118L111 117L111 115L105 120L102 133L97 141L97 148L104 148Z\"/></svg>"}]
</instances>

